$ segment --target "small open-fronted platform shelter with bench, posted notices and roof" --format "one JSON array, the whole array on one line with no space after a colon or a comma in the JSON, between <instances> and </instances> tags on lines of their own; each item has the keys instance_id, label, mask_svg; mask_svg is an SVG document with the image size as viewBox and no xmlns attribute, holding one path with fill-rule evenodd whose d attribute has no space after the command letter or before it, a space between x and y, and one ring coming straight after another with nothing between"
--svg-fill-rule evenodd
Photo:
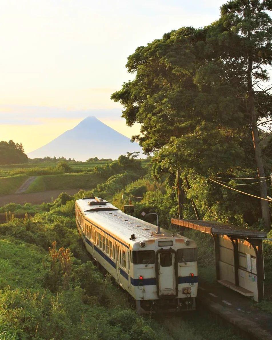
<instances>
[{"instance_id":1,"label":"small open-fronted platform shelter with bench, posted notices and roof","mask_svg":"<svg viewBox=\"0 0 272 340\"><path fill-rule=\"evenodd\" d=\"M215 245L217 282L255 301L264 298L262 240L267 233L232 224L172 218L172 224L210 234Z\"/></svg>"}]
</instances>

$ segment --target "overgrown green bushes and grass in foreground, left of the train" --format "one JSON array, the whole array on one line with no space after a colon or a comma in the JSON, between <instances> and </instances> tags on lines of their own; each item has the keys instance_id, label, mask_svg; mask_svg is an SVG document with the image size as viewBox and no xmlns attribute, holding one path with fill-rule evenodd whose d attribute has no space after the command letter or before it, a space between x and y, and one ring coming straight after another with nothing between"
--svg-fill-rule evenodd
<instances>
[{"instance_id":1,"label":"overgrown green bushes and grass in foreground, left of the train","mask_svg":"<svg viewBox=\"0 0 272 340\"><path fill-rule=\"evenodd\" d=\"M0 225L0 339L239 339L201 312L137 316L92 264L61 197L48 212Z\"/></svg>"}]
</instances>

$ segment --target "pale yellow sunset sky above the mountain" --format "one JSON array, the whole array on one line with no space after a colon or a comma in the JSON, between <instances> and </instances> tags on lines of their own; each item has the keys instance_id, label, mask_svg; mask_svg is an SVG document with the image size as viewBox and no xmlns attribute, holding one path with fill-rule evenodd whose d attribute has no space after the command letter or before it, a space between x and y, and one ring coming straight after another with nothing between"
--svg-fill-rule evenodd
<instances>
[{"instance_id":1,"label":"pale yellow sunset sky above the mountain","mask_svg":"<svg viewBox=\"0 0 272 340\"><path fill-rule=\"evenodd\" d=\"M0 140L33 151L87 116L131 137L111 94L138 46L219 17L219 0L1 0Z\"/></svg>"}]
</instances>

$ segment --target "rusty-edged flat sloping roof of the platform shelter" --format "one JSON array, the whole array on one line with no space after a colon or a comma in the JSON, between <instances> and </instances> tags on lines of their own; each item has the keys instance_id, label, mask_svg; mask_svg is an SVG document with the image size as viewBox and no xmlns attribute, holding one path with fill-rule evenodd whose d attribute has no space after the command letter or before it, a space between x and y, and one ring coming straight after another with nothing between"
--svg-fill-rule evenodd
<instances>
[{"instance_id":1,"label":"rusty-edged flat sloping roof of the platform shelter","mask_svg":"<svg viewBox=\"0 0 272 340\"><path fill-rule=\"evenodd\" d=\"M171 223L191 229L201 231L208 234L233 235L252 238L265 238L267 233L259 232L247 228L238 227L237 225L220 223L215 221L197 221L197 220L183 220L172 218Z\"/></svg>"}]
</instances>

